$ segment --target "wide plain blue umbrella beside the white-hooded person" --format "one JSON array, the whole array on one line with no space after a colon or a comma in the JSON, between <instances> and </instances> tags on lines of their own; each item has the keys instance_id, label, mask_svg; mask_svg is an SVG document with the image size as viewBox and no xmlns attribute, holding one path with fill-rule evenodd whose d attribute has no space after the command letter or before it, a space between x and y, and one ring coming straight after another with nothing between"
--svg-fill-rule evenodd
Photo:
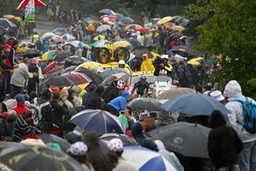
<instances>
[{"instance_id":1,"label":"wide plain blue umbrella beside the white-hooded person","mask_svg":"<svg viewBox=\"0 0 256 171\"><path fill-rule=\"evenodd\" d=\"M166 111L194 116L210 115L216 109L223 114L230 113L222 103L202 93L182 94L166 101L162 104L162 108Z\"/></svg>"}]
</instances>

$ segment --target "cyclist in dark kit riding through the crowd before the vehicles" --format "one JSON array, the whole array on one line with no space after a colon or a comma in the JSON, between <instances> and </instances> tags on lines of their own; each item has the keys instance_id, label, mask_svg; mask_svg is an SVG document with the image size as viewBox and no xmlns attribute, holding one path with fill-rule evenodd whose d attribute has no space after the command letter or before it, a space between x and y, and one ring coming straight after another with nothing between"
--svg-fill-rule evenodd
<instances>
[{"instance_id":1,"label":"cyclist in dark kit riding through the crowd before the vehicles","mask_svg":"<svg viewBox=\"0 0 256 171\"><path fill-rule=\"evenodd\" d=\"M132 95L134 93L138 97L146 97L148 90L150 89L150 84L146 82L146 76L139 78L139 81L134 84L134 89L131 91Z\"/></svg>"}]
</instances>

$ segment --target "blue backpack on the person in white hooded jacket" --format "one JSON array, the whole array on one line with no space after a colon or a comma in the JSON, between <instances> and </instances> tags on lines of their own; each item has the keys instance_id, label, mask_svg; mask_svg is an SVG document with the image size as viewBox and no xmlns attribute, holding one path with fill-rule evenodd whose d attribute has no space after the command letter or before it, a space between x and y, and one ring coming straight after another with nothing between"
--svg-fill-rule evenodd
<instances>
[{"instance_id":1,"label":"blue backpack on the person in white hooded jacket","mask_svg":"<svg viewBox=\"0 0 256 171\"><path fill-rule=\"evenodd\" d=\"M243 127L248 133L256 133L256 105L246 97L246 101L233 100L242 103Z\"/></svg>"}]
</instances>

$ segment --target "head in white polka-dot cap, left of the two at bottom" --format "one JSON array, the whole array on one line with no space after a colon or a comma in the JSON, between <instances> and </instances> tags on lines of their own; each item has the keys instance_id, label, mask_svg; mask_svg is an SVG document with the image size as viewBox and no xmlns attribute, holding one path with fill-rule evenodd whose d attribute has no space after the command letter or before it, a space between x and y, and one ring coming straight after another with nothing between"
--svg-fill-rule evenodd
<instances>
[{"instance_id":1,"label":"head in white polka-dot cap, left of the two at bottom","mask_svg":"<svg viewBox=\"0 0 256 171\"><path fill-rule=\"evenodd\" d=\"M87 145L82 141L77 141L70 146L70 149L67 150L69 155L76 159L82 164L86 164L86 153L88 151Z\"/></svg>"}]
</instances>

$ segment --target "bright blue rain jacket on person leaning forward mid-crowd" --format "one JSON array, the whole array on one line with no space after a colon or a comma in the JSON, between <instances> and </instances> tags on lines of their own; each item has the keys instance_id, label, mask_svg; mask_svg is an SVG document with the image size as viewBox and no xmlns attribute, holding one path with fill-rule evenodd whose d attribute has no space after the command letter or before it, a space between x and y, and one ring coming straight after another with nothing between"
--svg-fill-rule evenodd
<instances>
[{"instance_id":1,"label":"bright blue rain jacket on person leaning forward mid-crowd","mask_svg":"<svg viewBox=\"0 0 256 171\"><path fill-rule=\"evenodd\" d=\"M129 97L130 93L128 91L123 91L121 96L114 98L108 105L111 105L114 109L117 109L120 112L126 109L126 102Z\"/></svg>"}]
</instances>

